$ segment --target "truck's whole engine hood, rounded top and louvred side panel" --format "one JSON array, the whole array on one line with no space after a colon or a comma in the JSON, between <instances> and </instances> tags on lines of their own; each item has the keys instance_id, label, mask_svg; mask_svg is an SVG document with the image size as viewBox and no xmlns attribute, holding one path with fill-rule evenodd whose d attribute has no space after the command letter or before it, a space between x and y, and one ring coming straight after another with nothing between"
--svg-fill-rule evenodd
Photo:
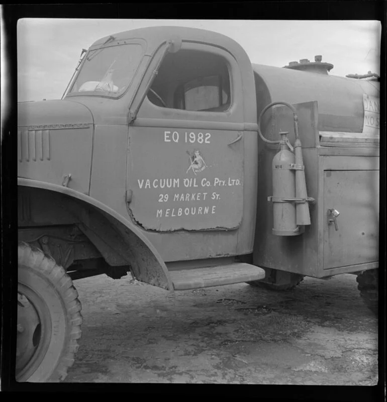
<instances>
[{"instance_id":1,"label":"truck's whole engine hood, rounded top and louvred side panel","mask_svg":"<svg viewBox=\"0 0 387 402\"><path fill-rule=\"evenodd\" d=\"M88 194L93 119L89 110L68 100L18 105L18 176L63 185Z\"/></svg>"}]
</instances>

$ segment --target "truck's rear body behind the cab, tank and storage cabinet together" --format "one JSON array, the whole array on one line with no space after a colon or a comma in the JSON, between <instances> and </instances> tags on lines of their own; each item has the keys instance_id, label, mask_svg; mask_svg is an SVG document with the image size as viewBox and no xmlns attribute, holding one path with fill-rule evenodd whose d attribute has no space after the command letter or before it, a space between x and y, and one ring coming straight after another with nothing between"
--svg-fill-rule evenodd
<instances>
[{"instance_id":1,"label":"truck's rear body behind the cab, tank and storage cabinet together","mask_svg":"<svg viewBox=\"0 0 387 402\"><path fill-rule=\"evenodd\" d=\"M308 195L314 199L311 225L302 236L272 234L273 206L267 199L278 147L260 139L253 261L265 268L264 282L273 288L292 287L302 275L369 269L363 276L374 277L378 266L379 83L328 75L323 68L317 72L313 67L319 63L310 64L304 71L291 64L253 64L258 116L270 103L297 105ZM286 130L293 144L291 120L288 109L265 113L264 137L274 140Z\"/></svg>"}]
</instances>

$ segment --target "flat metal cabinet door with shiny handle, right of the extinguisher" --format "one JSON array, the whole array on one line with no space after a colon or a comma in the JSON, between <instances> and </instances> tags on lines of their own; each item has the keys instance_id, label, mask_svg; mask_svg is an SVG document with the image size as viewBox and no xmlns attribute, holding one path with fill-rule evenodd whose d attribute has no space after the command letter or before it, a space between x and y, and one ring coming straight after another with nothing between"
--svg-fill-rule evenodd
<instances>
[{"instance_id":1,"label":"flat metal cabinet door with shiny handle, right of the extinguisher","mask_svg":"<svg viewBox=\"0 0 387 402\"><path fill-rule=\"evenodd\" d=\"M378 194L378 170L324 171L324 269L378 260Z\"/></svg>"}]
</instances>

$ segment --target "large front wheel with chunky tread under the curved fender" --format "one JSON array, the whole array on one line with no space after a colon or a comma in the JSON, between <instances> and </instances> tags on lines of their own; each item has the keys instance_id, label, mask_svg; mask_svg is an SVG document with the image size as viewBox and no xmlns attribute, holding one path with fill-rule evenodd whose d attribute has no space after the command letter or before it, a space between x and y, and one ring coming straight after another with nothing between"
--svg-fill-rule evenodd
<instances>
[{"instance_id":1,"label":"large front wheel with chunky tread under the curved fender","mask_svg":"<svg viewBox=\"0 0 387 402\"><path fill-rule=\"evenodd\" d=\"M81 336L80 310L65 270L42 250L19 243L17 381L56 382L66 377Z\"/></svg>"}]
</instances>

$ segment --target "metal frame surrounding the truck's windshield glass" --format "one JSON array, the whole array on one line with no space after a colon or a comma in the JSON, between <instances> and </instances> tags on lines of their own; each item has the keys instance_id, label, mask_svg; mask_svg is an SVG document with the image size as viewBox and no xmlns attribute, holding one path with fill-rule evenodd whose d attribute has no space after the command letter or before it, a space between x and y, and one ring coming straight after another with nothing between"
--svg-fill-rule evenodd
<instances>
[{"instance_id":1,"label":"metal frame surrounding the truck's windshield glass","mask_svg":"<svg viewBox=\"0 0 387 402\"><path fill-rule=\"evenodd\" d=\"M104 92L96 92L96 91L82 91L82 92L73 92L71 93L71 90L73 89L79 74L81 73L84 63L86 61L88 61L88 58L91 57L91 59L98 53L100 53L102 50L106 49L106 48L110 48L110 47L116 47L116 46L123 46L123 45L140 45L142 52L141 52L141 56L138 60L138 64L137 67L134 71L134 74L132 76L131 81L129 82L129 84L127 85L126 89L118 96L112 96L109 93L104 93ZM119 40L119 41L114 41L114 42L109 42L106 43L106 45L98 45L98 46L91 46L86 54L83 56L81 64L78 66L78 70L76 72L76 74L74 75L74 77L72 78L69 88L67 90L67 93L65 94L64 98L66 97L73 97L73 96L98 96L98 97L107 97L110 99L120 99L122 98L129 90L129 88L132 86L135 77L138 74L138 70L142 64L142 61L144 59L144 56L146 55L146 41L144 39L125 39L125 40Z\"/></svg>"}]
</instances>

